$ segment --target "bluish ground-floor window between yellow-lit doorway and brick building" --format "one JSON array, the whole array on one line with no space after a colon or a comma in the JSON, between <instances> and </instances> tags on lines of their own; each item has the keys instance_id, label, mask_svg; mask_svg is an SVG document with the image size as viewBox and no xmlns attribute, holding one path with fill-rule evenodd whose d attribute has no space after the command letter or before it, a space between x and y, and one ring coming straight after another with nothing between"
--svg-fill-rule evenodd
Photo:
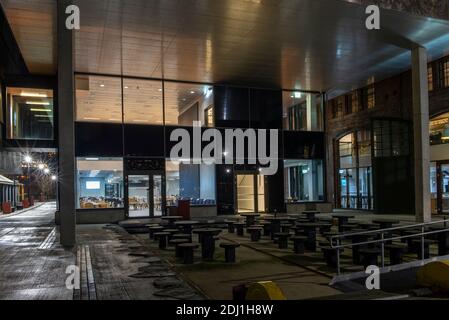
<instances>
[{"instance_id":1,"label":"bluish ground-floor window between yellow-lit doorway and brick building","mask_svg":"<svg viewBox=\"0 0 449 320\"><path fill-rule=\"evenodd\" d=\"M287 203L323 201L322 160L284 160Z\"/></svg>"}]
</instances>

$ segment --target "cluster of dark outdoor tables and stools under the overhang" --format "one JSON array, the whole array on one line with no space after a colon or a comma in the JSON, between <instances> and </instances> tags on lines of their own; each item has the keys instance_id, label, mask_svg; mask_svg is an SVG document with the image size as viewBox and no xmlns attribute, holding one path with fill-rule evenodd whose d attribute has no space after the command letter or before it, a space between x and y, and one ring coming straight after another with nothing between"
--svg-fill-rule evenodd
<instances>
[{"instance_id":1,"label":"cluster of dark outdoor tables and stools under the overhang","mask_svg":"<svg viewBox=\"0 0 449 320\"><path fill-rule=\"evenodd\" d=\"M426 228L426 232L436 233L421 242L420 229L401 229L404 223L397 219L361 219L350 213L245 213L212 221L183 220L181 216L161 220L148 225L149 238L160 250L173 250L181 265L238 263L245 259L239 257L238 248L245 246L335 275L337 271L362 271L373 264L397 265L449 253L449 231L442 232L443 222ZM380 232L381 225L395 230ZM396 229L398 226L401 228ZM382 233L387 239L383 259ZM401 236L408 238L388 240Z\"/></svg>"}]
</instances>

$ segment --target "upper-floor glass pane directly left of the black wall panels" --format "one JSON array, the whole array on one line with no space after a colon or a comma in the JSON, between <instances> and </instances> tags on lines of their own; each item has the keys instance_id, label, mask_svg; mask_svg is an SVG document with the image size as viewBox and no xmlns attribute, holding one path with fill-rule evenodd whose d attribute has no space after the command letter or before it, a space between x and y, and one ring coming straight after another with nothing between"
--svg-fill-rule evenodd
<instances>
[{"instance_id":1,"label":"upper-floor glass pane directly left of the black wall panels","mask_svg":"<svg viewBox=\"0 0 449 320\"><path fill-rule=\"evenodd\" d=\"M213 108L214 90L208 85L165 83L165 124L191 127L193 121L210 124L206 110ZM212 122L213 123L213 122Z\"/></svg>"}]
</instances>

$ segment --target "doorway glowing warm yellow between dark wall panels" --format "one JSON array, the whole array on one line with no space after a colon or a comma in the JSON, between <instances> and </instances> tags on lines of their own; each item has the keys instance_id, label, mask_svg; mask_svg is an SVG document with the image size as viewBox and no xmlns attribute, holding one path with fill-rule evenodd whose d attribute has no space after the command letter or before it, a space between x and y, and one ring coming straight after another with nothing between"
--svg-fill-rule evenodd
<instances>
[{"instance_id":1,"label":"doorway glowing warm yellow between dark wall panels","mask_svg":"<svg viewBox=\"0 0 449 320\"><path fill-rule=\"evenodd\" d=\"M262 213L265 205L265 177L256 173L236 175L237 213Z\"/></svg>"}]
</instances>

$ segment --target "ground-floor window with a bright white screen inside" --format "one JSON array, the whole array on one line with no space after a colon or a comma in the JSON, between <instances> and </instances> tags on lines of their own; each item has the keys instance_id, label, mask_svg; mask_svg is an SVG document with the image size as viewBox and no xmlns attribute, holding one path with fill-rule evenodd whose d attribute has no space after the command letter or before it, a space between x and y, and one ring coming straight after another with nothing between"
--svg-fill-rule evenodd
<instances>
[{"instance_id":1,"label":"ground-floor window with a bright white screen inside","mask_svg":"<svg viewBox=\"0 0 449 320\"><path fill-rule=\"evenodd\" d=\"M121 158L78 158L76 164L78 208L123 208Z\"/></svg>"}]
</instances>

